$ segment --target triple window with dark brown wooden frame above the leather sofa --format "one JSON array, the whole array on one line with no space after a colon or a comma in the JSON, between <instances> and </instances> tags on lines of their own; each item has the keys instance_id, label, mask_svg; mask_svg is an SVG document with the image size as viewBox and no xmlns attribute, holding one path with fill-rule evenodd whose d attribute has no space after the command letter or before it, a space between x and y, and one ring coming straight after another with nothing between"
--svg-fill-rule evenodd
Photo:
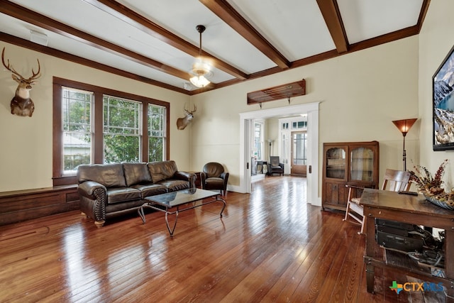
<instances>
[{"instance_id":1,"label":"triple window with dark brown wooden frame above the leather sofa","mask_svg":"<svg viewBox=\"0 0 454 303\"><path fill-rule=\"evenodd\" d=\"M170 104L54 77L55 185L74 184L77 166L169 157Z\"/></svg>"}]
</instances>

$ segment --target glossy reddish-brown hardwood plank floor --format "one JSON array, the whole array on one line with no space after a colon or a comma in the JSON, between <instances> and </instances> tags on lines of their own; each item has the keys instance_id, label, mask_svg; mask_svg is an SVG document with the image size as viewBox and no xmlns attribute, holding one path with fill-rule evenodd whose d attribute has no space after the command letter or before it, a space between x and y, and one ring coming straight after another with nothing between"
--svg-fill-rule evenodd
<instances>
[{"instance_id":1,"label":"glossy reddish-brown hardwood plank floor","mask_svg":"<svg viewBox=\"0 0 454 303\"><path fill-rule=\"evenodd\" d=\"M160 212L0 226L0 302L444 302L378 269L367 293L359 227L305 197L306 179L267 177L228 192L222 219L220 203L180 213L174 238Z\"/></svg>"}]
</instances>

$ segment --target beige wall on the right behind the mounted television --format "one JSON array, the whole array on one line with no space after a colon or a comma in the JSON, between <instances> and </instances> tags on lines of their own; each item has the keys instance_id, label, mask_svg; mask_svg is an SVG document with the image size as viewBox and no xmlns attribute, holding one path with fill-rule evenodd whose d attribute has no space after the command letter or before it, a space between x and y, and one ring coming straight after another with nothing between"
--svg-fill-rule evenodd
<instances>
[{"instance_id":1,"label":"beige wall on the right behind the mounted television","mask_svg":"<svg viewBox=\"0 0 454 303\"><path fill-rule=\"evenodd\" d=\"M421 121L421 165L435 173L444 159L449 159L445 182L454 187L454 151L432 149L432 76L454 45L452 12L454 1L431 1L419 34L419 120Z\"/></svg>"}]
</instances>

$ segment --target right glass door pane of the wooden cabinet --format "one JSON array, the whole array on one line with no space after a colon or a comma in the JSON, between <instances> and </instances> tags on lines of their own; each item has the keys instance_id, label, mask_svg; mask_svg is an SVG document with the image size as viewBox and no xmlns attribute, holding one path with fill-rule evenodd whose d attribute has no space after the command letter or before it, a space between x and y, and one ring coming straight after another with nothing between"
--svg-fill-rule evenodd
<instances>
[{"instance_id":1,"label":"right glass door pane of the wooden cabinet","mask_svg":"<svg viewBox=\"0 0 454 303\"><path fill-rule=\"evenodd\" d=\"M372 182L374 176L374 152L370 148L354 148L350 153L351 180Z\"/></svg>"}]
</instances>

